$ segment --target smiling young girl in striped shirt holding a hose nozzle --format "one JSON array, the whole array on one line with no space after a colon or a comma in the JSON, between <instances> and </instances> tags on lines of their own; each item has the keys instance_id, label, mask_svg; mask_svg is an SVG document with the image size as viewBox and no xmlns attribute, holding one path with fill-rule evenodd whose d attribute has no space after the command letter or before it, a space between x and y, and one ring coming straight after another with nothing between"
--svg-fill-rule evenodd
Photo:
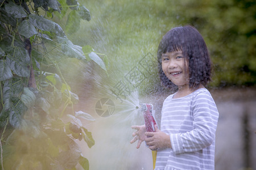
<instances>
[{"instance_id":1,"label":"smiling young girl in striped shirt holding a hose nozzle","mask_svg":"<svg viewBox=\"0 0 256 170\"><path fill-rule=\"evenodd\" d=\"M203 37L192 26L173 28L158 47L163 86L177 92L164 100L160 130L132 126L134 143L157 150L155 170L214 169L218 110L209 91L212 63Z\"/></svg>"}]
</instances>

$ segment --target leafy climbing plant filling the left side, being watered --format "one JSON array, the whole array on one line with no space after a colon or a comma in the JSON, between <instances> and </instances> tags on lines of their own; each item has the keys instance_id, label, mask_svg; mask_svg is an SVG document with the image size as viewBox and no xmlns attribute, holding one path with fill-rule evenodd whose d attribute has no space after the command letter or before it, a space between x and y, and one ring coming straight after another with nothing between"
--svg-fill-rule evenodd
<instances>
[{"instance_id":1,"label":"leafy climbing plant filling the left side, being watered","mask_svg":"<svg viewBox=\"0 0 256 170\"><path fill-rule=\"evenodd\" d=\"M0 169L76 169L77 164L89 169L76 139L94 145L80 120L94 118L73 109L65 115L79 97L59 61L92 59L106 71L108 59L88 45L74 45L48 19L67 15L65 31L73 33L80 20L90 20L89 10L72 0L1 0L0 5Z\"/></svg>"}]
</instances>

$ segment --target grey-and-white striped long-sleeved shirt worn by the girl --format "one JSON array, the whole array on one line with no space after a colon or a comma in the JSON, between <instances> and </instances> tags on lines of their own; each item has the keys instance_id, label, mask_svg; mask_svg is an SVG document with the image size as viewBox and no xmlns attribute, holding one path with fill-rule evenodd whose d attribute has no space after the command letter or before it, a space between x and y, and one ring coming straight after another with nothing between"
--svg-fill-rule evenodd
<instances>
[{"instance_id":1,"label":"grey-and-white striped long-sleeved shirt worn by the girl","mask_svg":"<svg viewBox=\"0 0 256 170\"><path fill-rule=\"evenodd\" d=\"M175 95L175 94L174 94ZM164 100L161 131L170 134L172 148L158 149L155 170L213 169L218 110L210 92Z\"/></svg>"}]
</instances>

